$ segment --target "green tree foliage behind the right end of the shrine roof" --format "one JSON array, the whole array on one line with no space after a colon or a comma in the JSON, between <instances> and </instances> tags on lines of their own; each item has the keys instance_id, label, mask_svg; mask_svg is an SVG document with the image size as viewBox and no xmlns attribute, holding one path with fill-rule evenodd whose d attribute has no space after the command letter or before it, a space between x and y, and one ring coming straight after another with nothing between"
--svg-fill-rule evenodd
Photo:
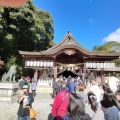
<instances>
[{"instance_id":1,"label":"green tree foliage behind the right end of the shrine roof","mask_svg":"<svg viewBox=\"0 0 120 120\"><path fill-rule=\"evenodd\" d=\"M104 53L120 52L120 43L117 41L110 41L102 46L94 46L93 51ZM120 59L113 60L112 62L115 62L116 66L120 66Z\"/></svg>"}]
</instances>

